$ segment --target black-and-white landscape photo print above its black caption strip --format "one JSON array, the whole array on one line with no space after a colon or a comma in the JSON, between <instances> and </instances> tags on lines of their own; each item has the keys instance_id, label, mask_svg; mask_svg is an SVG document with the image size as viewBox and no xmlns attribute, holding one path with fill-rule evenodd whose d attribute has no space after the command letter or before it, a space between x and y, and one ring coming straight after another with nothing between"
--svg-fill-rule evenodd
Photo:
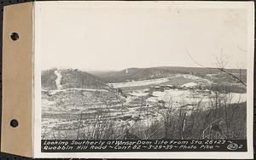
<instances>
[{"instance_id":1,"label":"black-and-white landscape photo print above its black caption strip","mask_svg":"<svg viewBox=\"0 0 256 160\"><path fill-rule=\"evenodd\" d=\"M41 4L41 140L247 140L243 5Z\"/></svg>"}]
</instances>

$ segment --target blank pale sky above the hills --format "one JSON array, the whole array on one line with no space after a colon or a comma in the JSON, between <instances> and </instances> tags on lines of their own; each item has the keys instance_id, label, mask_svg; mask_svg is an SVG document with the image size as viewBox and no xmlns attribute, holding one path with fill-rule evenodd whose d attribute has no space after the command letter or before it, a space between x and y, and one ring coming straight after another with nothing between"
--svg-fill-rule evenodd
<instances>
[{"instance_id":1,"label":"blank pale sky above the hills","mask_svg":"<svg viewBox=\"0 0 256 160\"><path fill-rule=\"evenodd\" d=\"M221 50L227 67L246 67L245 9L44 4L36 13L42 69L214 66Z\"/></svg>"}]
</instances>

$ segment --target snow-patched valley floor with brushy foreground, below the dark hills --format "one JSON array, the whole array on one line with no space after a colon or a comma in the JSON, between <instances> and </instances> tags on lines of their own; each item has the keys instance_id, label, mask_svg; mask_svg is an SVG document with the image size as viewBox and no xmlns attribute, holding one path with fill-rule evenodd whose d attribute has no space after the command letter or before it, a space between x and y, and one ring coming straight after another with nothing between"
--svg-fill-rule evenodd
<instances>
[{"instance_id":1,"label":"snow-patched valley floor with brushy foreground, below the dark hills","mask_svg":"<svg viewBox=\"0 0 256 160\"><path fill-rule=\"evenodd\" d=\"M55 75L57 89L42 90L42 139L246 139L247 94L212 90L208 79L177 74L108 83L113 90L62 89Z\"/></svg>"}]
</instances>

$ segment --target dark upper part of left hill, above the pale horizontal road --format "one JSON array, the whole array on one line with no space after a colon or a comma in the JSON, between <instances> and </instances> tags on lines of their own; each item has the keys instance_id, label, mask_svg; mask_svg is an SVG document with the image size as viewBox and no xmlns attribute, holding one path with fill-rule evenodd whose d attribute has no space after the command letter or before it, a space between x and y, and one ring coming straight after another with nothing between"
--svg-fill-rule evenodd
<instances>
[{"instance_id":1,"label":"dark upper part of left hill, above the pale horizontal road","mask_svg":"<svg viewBox=\"0 0 256 160\"><path fill-rule=\"evenodd\" d=\"M56 82L58 78L60 82ZM100 77L77 69L42 71L41 79L43 89L110 89Z\"/></svg>"}]
</instances>

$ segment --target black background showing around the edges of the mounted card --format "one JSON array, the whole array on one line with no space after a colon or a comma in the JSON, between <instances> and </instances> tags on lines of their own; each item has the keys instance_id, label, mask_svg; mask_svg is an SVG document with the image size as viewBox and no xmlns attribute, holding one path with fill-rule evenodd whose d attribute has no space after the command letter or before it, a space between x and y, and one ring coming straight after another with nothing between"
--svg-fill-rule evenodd
<instances>
[{"instance_id":1,"label":"black background showing around the edges of the mounted card","mask_svg":"<svg viewBox=\"0 0 256 160\"><path fill-rule=\"evenodd\" d=\"M4 6L7 6L7 5L11 5L11 4L16 4L16 3L26 3L26 2L33 2L33 1L45 1L45 0L0 0L0 9L1 9L1 12L0 12L0 16L1 16L1 20L0 20L0 97L1 97L1 100L0 100L0 133L1 133L1 124L2 124L2 71L3 71L3 67L2 67L2 62L3 62L3 7ZM48 0L48 1L51 1L51 0ZM61 0L59 0L61 1ZM72 1L72 0L70 0ZM83 0L81 0L83 1ZM226 0L226 1L230 1L230 0ZM221 2L221 1L219 1ZM241 0L241 1L232 1L232 2L248 2L248 1L245 1L245 0ZM251 2L254 2L254 9L256 8L256 5L255 5L255 1L251 1ZM254 10L255 12L255 10ZM255 15L255 13L254 13ZM256 20L254 19L254 21L256 22ZM256 28L256 27L255 27ZM254 43L256 42L256 38L255 38L255 29L254 29ZM254 55L255 55L255 47L254 47ZM255 61L255 56L254 56L254 61ZM254 71L255 71L255 64L254 64ZM253 83L255 82L255 74L253 74ZM254 97L254 94L255 94L255 89L253 87L253 150L254 148L256 148L256 131L255 131L255 127L256 127L256 121L255 121L255 117L256 117L256 107L255 107L255 97ZM0 140L1 142L1 140ZM254 151L254 158L255 159L255 151ZM20 156L15 156L15 155L12 155L12 154L8 154L8 153L3 153L3 152L0 152L0 160L26 160L26 159L35 159L35 158L30 158L30 157L20 157ZM50 159L50 158L36 158L36 159ZM51 158L52 159L52 158ZM68 158L55 158L56 160L57 159L68 159ZM78 158L75 158L75 159L78 159ZM83 159L83 158L79 158L79 159Z\"/></svg>"}]
</instances>

